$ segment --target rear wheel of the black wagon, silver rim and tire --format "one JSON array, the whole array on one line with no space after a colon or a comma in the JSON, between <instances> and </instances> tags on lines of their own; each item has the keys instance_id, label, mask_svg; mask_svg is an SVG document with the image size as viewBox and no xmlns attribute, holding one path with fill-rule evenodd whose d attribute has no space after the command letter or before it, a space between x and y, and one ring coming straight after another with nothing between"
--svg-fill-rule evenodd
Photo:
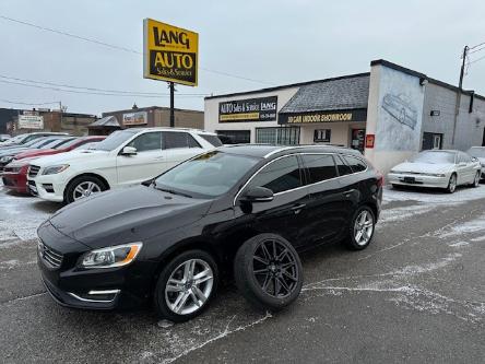
<instances>
[{"instance_id":1,"label":"rear wheel of the black wagon, silver rim and tire","mask_svg":"<svg viewBox=\"0 0 485 364\"><path fill-rule=\"evenodd\" d=\"M346 245L352 250L363 250L367 248L374 237L376 230L376 216L372 210L366 206L355 211L351 225Z\"/></svg>"}]
</instances>

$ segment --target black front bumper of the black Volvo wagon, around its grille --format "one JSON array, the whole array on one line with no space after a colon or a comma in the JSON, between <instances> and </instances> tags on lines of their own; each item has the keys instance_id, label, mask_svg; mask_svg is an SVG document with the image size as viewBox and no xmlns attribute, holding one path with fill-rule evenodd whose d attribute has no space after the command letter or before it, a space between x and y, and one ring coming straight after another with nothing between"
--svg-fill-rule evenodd
<instances>
[{"instance_id":1,"label":"black front bumper of the black Volvo wagon, around its grille","mask_svg":"<svg viewBox=\"0 0 485 364\"><path fill-rule=\"evenodd\" d=\"M37 254L42 280L58 304L72 308L102 309L131 308L143 304L152 293L156 265L135 260L133 263L108 269L82 269L78 259L90 247L58 232L50 223L38 230L45 246L60 255L59 267Z\"/></svg>"}]
</instances>

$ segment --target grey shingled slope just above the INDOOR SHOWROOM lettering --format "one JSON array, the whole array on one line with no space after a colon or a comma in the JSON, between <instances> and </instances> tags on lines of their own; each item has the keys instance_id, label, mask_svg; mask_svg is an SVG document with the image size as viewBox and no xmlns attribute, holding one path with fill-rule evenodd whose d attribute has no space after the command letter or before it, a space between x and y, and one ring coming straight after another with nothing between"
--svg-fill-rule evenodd
<instances>
[{"instance_id":1,"label":"grey shingled slope just above the INDOOR SHOWROOM lettering","mask_svg":"<svg viewBox=\"0 0 485 364\"><path fill-rule=\"evenodd\" d=\"M304 85L280 113L367 108L369 79L369 74L358 74Z\"/></svg>"}]
</instances>

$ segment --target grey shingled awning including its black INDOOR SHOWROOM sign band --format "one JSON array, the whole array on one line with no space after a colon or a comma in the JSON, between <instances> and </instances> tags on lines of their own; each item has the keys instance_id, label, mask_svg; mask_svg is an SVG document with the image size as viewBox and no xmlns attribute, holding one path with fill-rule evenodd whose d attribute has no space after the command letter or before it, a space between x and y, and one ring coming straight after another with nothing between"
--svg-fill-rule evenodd
<instances>
[{"instance_id":1,"label":"grey shingled awning including its black INDOOR SHOWROOM sign band","mask_svg":"<svg viewBox=\"0 0 485 364\"><path fill-rule=\"evenodd\" d=\"M368 73L303 85L281 108L279 124L365 121Z\"/></svg>"}]
</instances>

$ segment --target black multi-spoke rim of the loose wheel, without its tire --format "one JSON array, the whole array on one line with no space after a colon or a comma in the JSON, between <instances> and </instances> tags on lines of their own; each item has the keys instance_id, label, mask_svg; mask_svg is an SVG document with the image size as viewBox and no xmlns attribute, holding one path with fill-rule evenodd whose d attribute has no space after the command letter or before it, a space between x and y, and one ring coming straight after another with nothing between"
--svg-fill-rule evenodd
<instances>
[{"instance_id":1,"label":"black multi-spoke rim of the loose wheel, without its tire","mask_svg":"<svg viewBox=\"0 0 485 364\"><path fill-rule=\"evenodd\" d=\"M276 298L289 296L299 280L294 253L275 239L261 242L256 247L252 273L262 291Z\"/></svg>"}]
</instances>

